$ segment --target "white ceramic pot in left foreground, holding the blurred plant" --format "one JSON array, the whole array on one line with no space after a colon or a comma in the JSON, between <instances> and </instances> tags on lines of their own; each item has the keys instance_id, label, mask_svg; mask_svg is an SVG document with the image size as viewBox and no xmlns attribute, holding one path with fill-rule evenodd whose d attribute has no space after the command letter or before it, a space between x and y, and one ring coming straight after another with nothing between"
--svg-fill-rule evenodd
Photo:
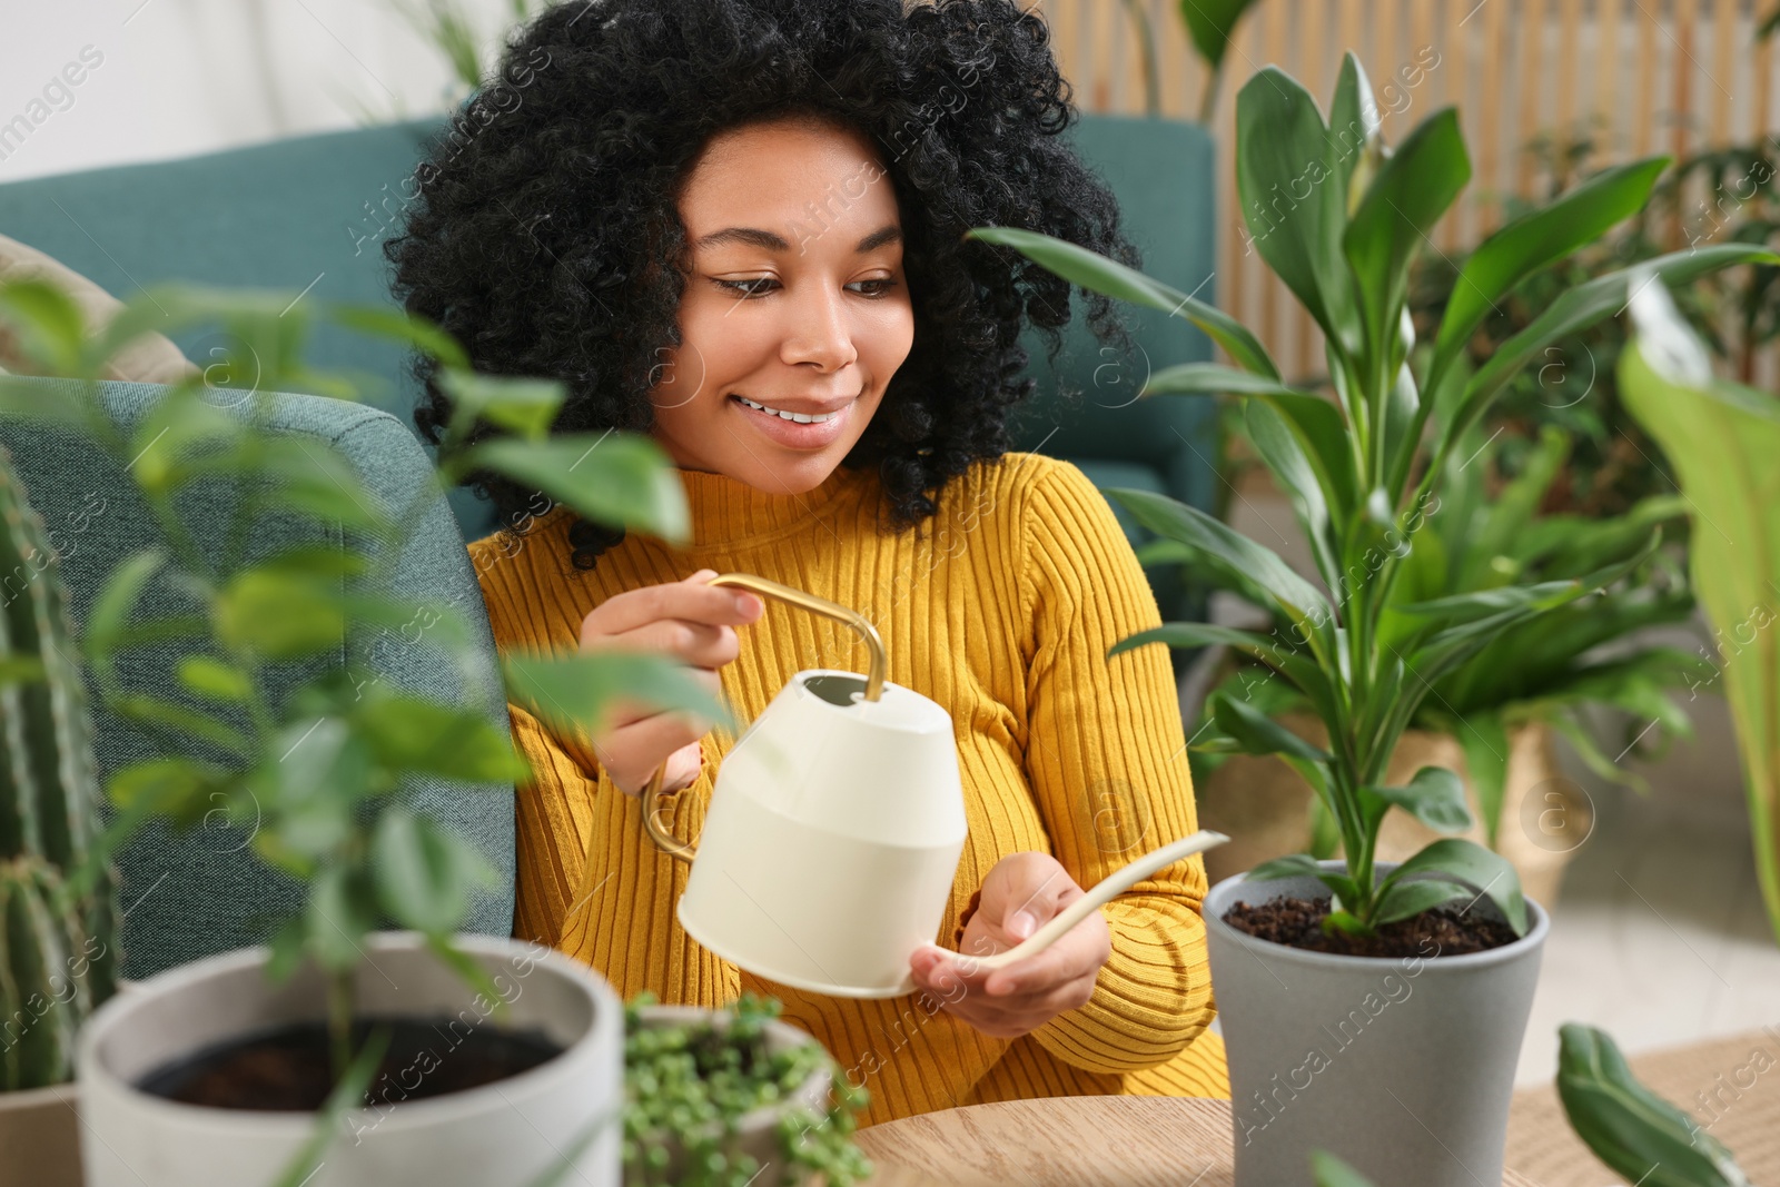
<instances>
[{"instance_id":1,"label":"white ceramic pot in left foreground, holding the blurred plant","mask_svg":"<svg viewBox=\"0 0 1780 1187\"><path fill-rule=\"evenodd\" d=\"M454 1018L440 1059L479 1025L541 1029L564 1050L482 1087L344 1114L304 1187L523 1187L564 1160L566 1182L618 1187L623 1134L623 1004L587 966L538 945L457 936L509 1011L429 954L413 933L372 933L354 973L365 1018ZM308 1112L206 1109L135 1087L148 1073L246 1034L319 1020L313 968L274 986L267 949L240 949L151 977L100 1007L80 1034L87 1187L267 1187L313 1128ZM418 1075L418 1073L417 1073ZM413 1084L408 1084L413 1087ZM372 1098L383 1089L374 1084ZM400 1093L395 1086L393 1094Z\"/></svg>"}]
</instances>

